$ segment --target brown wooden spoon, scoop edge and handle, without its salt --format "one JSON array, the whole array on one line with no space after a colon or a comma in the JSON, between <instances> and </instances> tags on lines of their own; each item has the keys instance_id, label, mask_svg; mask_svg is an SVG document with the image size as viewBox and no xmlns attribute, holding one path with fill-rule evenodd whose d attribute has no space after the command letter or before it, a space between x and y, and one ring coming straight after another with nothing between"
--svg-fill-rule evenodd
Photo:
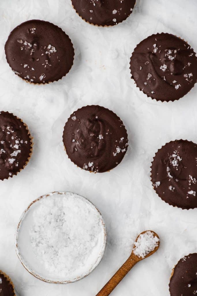
<instances>
[{"instance_id":1,"label":"brown wooden spoon, scoop edge and handle, without its salt","mask_svg":"<svg viewBox=\"0 0 197 296\"><path fill-rule=\"evenodd\" d=\"M147 230L148 231L148 230ZM141 234L144 234L147 231L143 231L139 234L139 236ZM156 236L159 239L159 236L157 233L155 233L152 230L149 230L152 232L152 234L154 236ZM139 236L136 238L136 242L139 238ZM133 250L134 250L135 244L133 246ZM159 241L157 243L157 246L154 248L153 251L149 252L144 258L147 258L149 256L151 256L152 254L154 254L159 248ZM131 255L129 256L129 258L126 260L126 262L121 266L120 269L118 269L118 271L114 274L114 276L108 281L108 283L100 290L100 292L98 292L98 294L96 296L108 296L110 295L110 293L113 291L113 289L115 289L115 287L120 283L120 281L126 276L126 274L131 270L131 268L136 265L136 263L138 263L139 261L143 260L144 258L142 257L138 257L137 255L135 255L133 253L133 250L131 252Z\"/></svg>"}]
</instances>

